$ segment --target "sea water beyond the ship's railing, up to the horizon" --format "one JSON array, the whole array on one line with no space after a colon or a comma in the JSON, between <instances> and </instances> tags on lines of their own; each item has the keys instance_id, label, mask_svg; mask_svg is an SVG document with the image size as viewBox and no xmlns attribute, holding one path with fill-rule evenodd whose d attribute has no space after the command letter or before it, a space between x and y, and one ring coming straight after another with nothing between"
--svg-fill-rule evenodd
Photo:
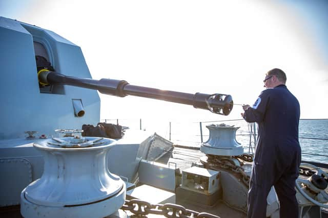
<instances>
[{"instance_id":1,"label":"sea water beyond the ship's railing, up to the horizon","mask_svg":"<svg viewBox=\"0 0 328 218\"><path fill-rule=\"evenodd\" d=\"M114 120L111 121L111 123L117 122L117 120L115 122ZM201 124L196 121L176 119L172 121L157 118L119 119L118 123L131 129L141 129L149 133L156 132L175 144L192 147L200 147L201 140L203 142L208 140L209 130L206 128L207 125L223 123L234 125L240 127L236 131L236 140L242 145L244 152L254 152L254 137L252 136L250 139L250 133L253 133L254 127L243 119L203 121ZM302 160L328 163L328 119L301 119L299 142L302 149Z\"/></svg>"}]
</instances>

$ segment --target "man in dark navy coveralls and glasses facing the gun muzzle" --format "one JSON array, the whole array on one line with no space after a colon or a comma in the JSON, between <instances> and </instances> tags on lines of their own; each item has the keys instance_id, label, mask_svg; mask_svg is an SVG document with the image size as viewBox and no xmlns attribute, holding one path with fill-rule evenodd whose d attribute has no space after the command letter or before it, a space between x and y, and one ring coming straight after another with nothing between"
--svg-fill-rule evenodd
<instances>
[{"instance_id":1,"label":"man in dark navy coveralls and glasses facing the gun muzzle","mask_svg":"<svg viewBox=\"0 0 328 218\"><path fill-rule=\"evenodd\" d=\"M265 217L267 196L275 187L280 218L298 217L295 180L299 175L301 148L298 141L299 103L285 86L286 75L274 68L265 75L262 91L252 107L243 105L243 118L258 123L248 193L248 217Z\"/></svg>"}]
</instances>

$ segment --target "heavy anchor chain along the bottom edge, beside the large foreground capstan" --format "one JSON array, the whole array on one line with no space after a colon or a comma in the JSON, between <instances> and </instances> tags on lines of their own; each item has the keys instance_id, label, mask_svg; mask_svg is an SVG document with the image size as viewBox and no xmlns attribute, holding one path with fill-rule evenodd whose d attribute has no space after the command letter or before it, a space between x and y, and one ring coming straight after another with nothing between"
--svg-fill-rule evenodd
<instances>
[{"instance_id":1,"label":"heavy anchor chain along the bottom edge, beside the large foreground capstan","mask_svg":"<svg viewBox=\"0 0 328 218\"><path fill-rule=\"evenodd\" d=\"M185 207L177 204L151 204L147 201L139 199L126 200L125 204L121 207L122 210L129 210L130 212L146 216L148 214L164 215L168 218L220 218L206 212L196 212L194 210L186 209Z\"/></svg>"}]
</instances>

